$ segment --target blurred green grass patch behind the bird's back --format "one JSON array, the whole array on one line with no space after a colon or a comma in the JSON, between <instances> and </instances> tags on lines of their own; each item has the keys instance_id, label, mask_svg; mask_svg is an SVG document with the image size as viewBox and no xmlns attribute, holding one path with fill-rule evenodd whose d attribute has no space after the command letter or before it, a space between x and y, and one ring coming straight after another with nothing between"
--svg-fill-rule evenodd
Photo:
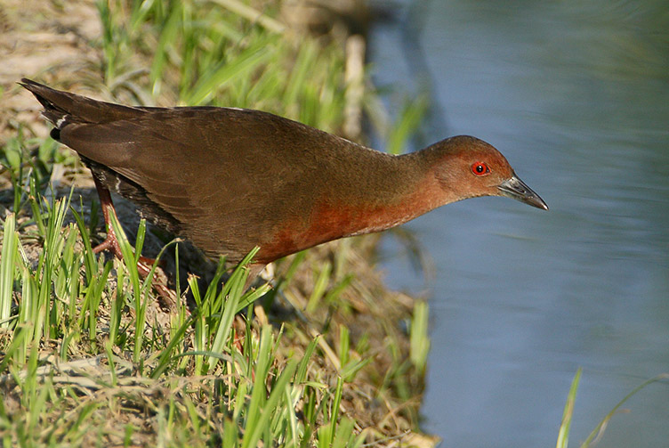
<instances>
[{"instance_id":1,"label":"blurred green grass patch behind the bird's back","mask_svg":"<svg viewBox=\"0 0 669 448\"><path fill-rule=\"evenodd\" d=\"M341 126L346 86L343 52L335 42L289 33L265 9L233 12L239 2L98 2L109 92L167 104L254 108L311 126ZM254 20L246 18L253 17ZM151 51L155 48L155 53ZM153 53L150 69L135 69ZM137 79L149 77L149 89ZM148 91L147 91L148 90Z\"/></svg>"}]
</instances>

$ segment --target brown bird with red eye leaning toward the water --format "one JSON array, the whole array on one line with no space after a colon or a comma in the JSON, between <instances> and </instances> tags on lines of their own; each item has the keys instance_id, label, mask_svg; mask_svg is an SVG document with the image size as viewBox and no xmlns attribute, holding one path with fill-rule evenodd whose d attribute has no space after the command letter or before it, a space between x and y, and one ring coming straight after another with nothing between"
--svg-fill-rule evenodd
<instances>
[{"instance_id":1,"label":"brown bird with red eye leaning toward the water","mask_svg":"<svg viewBox=\"0 0 669 448\"><path fill-rule=\"evenodd\" d=\"M381 232L434 208L505 196L548 210L492 145L456 135L392 155L261 110L125 106L21 86L42 104L51 137L90 168L105 249L121 257L110 191L207 257L254 266L330 240Z\"/></svg>"}]
</instances>

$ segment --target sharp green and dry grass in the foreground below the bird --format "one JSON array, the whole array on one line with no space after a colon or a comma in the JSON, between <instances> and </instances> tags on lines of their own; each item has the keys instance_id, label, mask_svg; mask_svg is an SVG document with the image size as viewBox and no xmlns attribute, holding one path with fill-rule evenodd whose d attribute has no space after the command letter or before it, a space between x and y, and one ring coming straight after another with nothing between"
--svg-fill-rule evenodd
<instances>
[{"instance_id":1,"label":"sharp green and dry grass in the foreground below the bird","mask_svg":"<svg viewBox=\"0 0 669 448\"><path fill-rule=\"evenodd\" d=\"M324 344L320 335L305 340L304 348L279 348L285 328L253 317L260 310L254 301L269 286L243 291L253 252L222 289L215 285L223 264L204 294L191 277L197 306L189 311L180 302L171 322L162 325L147 317L155 301L152 277L141 279L138 256L120 224L112 222L125 263L96 260L90 244L77 248L77 241L90 236L70 197L44 200L36 192L28 202L37 213L30 222L36 232L31 238L41 246L36 265L26 256L16 216L4 219L0 307L10 311L3 319L0 363L4 440L21 446L133 445L147 439L205 446L214 440L242 447L260 441L360 446L369 440L340 410L344 386L353 385L372 357L351 348L345 325L334 331L337 352L328 345L318 350ZM68 211L77 224L63 224ZM144 231L141 226L140 240ZM242 308L246 318L236 317ZM300 353L291 353L296 349ZM335 360L335 377L314 364L314 354ZM6 411L9 403L18 410ZM102 424L119 415L127 420L122 431ZM141 430L146 421L154 426L149 436Z\"/></svg>"}]
</instances>

